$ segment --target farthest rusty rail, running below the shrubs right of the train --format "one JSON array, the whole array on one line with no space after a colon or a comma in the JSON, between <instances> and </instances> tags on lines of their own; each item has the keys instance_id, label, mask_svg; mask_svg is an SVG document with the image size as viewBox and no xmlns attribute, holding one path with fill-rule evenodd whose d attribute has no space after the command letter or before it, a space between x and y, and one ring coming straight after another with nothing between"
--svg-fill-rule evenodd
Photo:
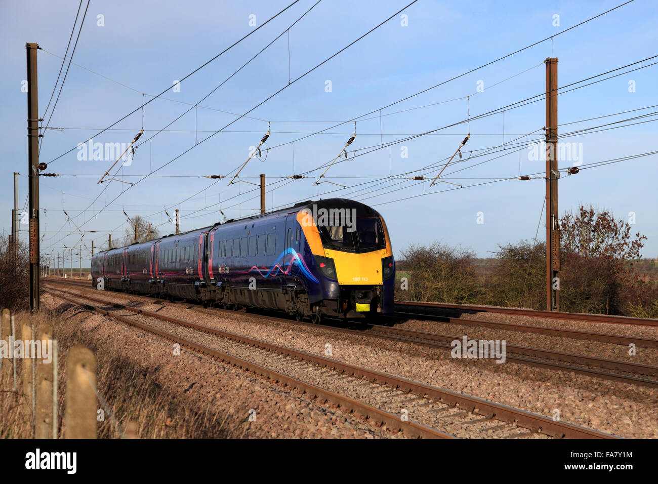
<instances>
[{"instance_id":1,"label":"farthest rusty rail, running below the shrubs right of the train","mask_svg":"<svg viewBox=\"0 0 658 484\"><path fill-rule=\"evenodd\" d=\"M549 319L568 319L569 321L589 321L592 323L609 323L618 325L640 325L658 327L658 319L642 317L612 316L604 314L565 313L562 311L539 311L536 309L499 308L495 306L474 306L472 304L447 304L442 302L395 301L398 306L417 308L457 309L460 311L501 313L515 316L546 317Z\"/></svg>"}]
</instances>

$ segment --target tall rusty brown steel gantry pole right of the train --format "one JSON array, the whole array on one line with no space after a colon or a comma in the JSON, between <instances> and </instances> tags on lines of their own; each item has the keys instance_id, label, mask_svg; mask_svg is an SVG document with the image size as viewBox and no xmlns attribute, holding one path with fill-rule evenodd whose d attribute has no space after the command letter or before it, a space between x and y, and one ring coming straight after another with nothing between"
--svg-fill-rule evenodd
<instances>
[{"instance_id":1,"label":"tall rusty brown steel gantry pole right of the train","mask_svg":"<svg viewBox=\"0 0 658 484\"><path fill-rule=\"evenodd\" d=\"M546 65L546 309L559 310L560 232L557 217L557 57Z\"/></svg>"}]
</instances>

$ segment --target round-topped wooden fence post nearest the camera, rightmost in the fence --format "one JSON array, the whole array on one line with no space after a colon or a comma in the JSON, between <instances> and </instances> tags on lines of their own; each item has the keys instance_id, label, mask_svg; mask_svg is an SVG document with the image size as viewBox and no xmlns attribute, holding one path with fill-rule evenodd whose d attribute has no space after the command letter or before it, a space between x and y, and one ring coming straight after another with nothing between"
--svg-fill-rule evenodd
<instances>
[{"instance_id":1,"label":"round-topped wooden fence post nearest the camera, rightmost in the fence","mask_svg":"<svg viewBox=\"0 0 658 484\"><path fill-rule=\"evenodd\" d=\"M66 439L96 439L96 360L84 346L66 358Z\"/></svg>"}]
</instances>

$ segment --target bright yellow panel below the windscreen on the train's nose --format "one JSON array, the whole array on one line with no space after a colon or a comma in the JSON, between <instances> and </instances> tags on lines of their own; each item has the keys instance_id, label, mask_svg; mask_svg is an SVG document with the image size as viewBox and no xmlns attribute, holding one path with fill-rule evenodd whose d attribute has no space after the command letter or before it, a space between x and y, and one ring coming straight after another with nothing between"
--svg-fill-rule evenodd
<instances>
[{"instance_id":1,"label":"bright yellow panel below the windscreen on the train's nose","mask_svg":"<svg viewBox=\"0 0 658 484\"><path fill-rule=\"evenodd\" d=\"M365 252L365 254L323 250L325 257L334 259L338 284L370 286L382 284L382 257L386 257L386 249Z\"/></svg>"}]
</instances>

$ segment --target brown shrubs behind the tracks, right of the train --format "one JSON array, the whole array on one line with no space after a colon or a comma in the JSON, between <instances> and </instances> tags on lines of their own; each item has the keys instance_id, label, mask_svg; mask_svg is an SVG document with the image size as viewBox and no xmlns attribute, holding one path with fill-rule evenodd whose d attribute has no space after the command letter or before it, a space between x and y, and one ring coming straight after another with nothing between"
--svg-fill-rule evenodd
<instances>
[{"instance_id":1,"label":"brown shrubs behind the tracks, right of the train","mask_svg":"<svg viewBox=\"0 0 658 484\"><path fill-rule=\"evenodd\" d=\"M658 317L658 284L634 269L645 236L609 211L579 207L560 221L560 310ZM545 242L499 246L493 269L480 270L472 251L435 242L401 252L396 298L545 309ZM645 265L645 264L644 264Z\"/></svg>"}]
</instances>

